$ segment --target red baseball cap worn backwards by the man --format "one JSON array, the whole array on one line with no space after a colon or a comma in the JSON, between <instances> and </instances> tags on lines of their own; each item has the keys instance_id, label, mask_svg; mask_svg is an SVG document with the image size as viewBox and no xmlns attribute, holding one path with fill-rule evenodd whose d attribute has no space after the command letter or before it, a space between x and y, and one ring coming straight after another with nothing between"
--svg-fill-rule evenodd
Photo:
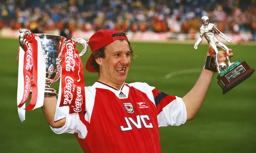
<instances>
[{"instance_id":1,"label":"red baseball cap worn backwards by the man","mask_svg":"<svg viewBox=\"0 0 256 153\"><path fill-rule=\"evenodd\" d=\"M128 41L126 36L116 36L113 37L112 34L117 33L120 31L116 31L116 30L99 30L97 32L95 32L89 39L89 46L92 50L92 53L97 51L98 49L107 46L108 44L119 40L119 39L125 39L126 41ZM88 58L85 68L87 71L92 72L92 73L97 73L98 71L94 70L93 67L91 66L91 62L92 62L92 54L90 55L90 57Z\"/></svg>"}]
</instances>

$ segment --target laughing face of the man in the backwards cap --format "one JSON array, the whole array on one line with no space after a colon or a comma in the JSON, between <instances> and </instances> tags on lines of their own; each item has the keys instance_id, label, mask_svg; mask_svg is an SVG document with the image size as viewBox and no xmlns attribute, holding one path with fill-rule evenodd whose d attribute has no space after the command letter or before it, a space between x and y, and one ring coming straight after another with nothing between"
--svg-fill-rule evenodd
<instances>
[{"instance_id":1,"label":"laughing face of the man in the backwards cap","mask_svg":"<svg viewBox=\"0 0 256 153\"><path fill-rule=\"evenodd\" d=\"M114 41L105 47L105 58L100 58L100 79L120 85L125 82L131 63L127 41ZM99 61L99 59L97 59Z\"/></svg>"}]
</instances>

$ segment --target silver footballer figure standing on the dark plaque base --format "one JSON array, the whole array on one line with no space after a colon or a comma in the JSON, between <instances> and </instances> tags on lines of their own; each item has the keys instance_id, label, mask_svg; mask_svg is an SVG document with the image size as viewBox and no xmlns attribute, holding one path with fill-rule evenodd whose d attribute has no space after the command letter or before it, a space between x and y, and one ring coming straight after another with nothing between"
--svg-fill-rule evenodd
<instances>
[{"instance_id":1,"label":"silver footballer figure standing on the dark plaque base","mask_svg":"<svg viewBox=\"0 0 256 153\"><path fill-rule=\"evenodd\" d=\"M225 44L221 43L219 41L219 39L215 36L215 32L222 37L223 39L225 39L228 43L231 43L232 40L229 39L228 37L226 37L222 32L220 32L216 26L214 24L209 24L209 18L207 16L203 16L202 18L202 27L200 28L200 37L198 38L197 42L194 45L194 48L197 49L197 46L202 42L202 38L203 36L205 37L205 39L208 41L208 44L212 46L212 48L214 49L215 53L216 53L216 58L215 58L215 63L216 63L216 67L217 67L217 71L218 73L220 73L220 70L225 69L226 65L219 65L218 62L218 48L220 48L222 51L225 51L225 53L229 53L228 48ZM223 62L224 63L224 62ZM230 62L230 58L227 56L227 64L228 66L232 65L232 63Z\"/></svg>"}]
</instances>

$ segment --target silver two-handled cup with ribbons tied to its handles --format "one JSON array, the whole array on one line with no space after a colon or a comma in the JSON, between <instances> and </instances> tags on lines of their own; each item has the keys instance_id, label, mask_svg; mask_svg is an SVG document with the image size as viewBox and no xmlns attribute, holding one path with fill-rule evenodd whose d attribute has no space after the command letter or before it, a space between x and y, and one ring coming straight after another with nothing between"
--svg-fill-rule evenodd
<instances>
[{"instance_id":1,"label":"silver two-handled cup with ribbons tied to its handles","mask_svg":"<svg viewBox=\"0 0 256 153\"><path fill-rule=\"evenodd\" d=\"M19 32L19 43L22 49L25 50L25 36L31 36L31 31L27 29L20 29ZM57 96L58 94L56 93L56 90L51 88L50 85L56 82L61 76L61 55L67 39L65 37L52 34L34 34L34 36L38 36L41 40L43 57L46 64L45 97ZM84 56L88 50L88 42L82 38L75 38L73 41L83 45L83 50L79 56ZM29 45L31 47L31 44ZM30 90L30 94L31 93L32 89Z\"/></svg>"}]
</instances>

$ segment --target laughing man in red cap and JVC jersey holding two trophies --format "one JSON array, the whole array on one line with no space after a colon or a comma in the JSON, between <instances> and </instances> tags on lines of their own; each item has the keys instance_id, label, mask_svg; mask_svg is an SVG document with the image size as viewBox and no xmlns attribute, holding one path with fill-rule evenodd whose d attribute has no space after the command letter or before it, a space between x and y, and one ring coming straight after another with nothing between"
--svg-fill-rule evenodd
<instances>
[{"instance_id":1,"label":"laughing man in red cap and JVC jersey holding two trophies","mask_svg":"<svg viewBox=\"0 0 256 153\"><path fill-rule=\"evenodd\" d=\"M214 72L203 68L187 95L173 97L147 83L125 83L133 58L125 33L97 31L90 37L89 46L92 54L86 70L98 72L99 79L85 87L86 111L54 121L57 99L45 98L42 110L50 128L57 134L74 133L86 153L160 153L159 127L192 120ZM207 55L213 56L213 52L209 47ZM225 54L220 57L219 61L225 61Z\"/></svg>"}]
</instances>

